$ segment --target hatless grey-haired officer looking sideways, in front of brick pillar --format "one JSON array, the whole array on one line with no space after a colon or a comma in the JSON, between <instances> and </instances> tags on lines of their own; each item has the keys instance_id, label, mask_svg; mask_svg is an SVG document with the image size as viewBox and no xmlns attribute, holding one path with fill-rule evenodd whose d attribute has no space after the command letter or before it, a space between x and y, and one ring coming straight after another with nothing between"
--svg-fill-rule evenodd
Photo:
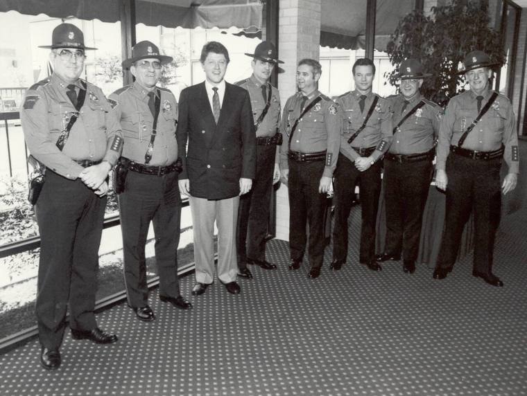
<instances>
[{"instance_id":1,"label":"hatless grey-haired officer looking sideways, in front of brick pillar","mask_svg":"<svg viewBox=\"0 0 527 396\"><path fill-rule=\"evenodd\" d=\"M340 118L338 105L318 91L322 68L312 59L298 62L299 92L288 98L282 115L284 141L280 152L282 179L289 192L289 269L299 269L306 248L309 224L309 278L322 267L327 195L333 194L331 177L336 167Z\"/></svg>"}]
</instances>

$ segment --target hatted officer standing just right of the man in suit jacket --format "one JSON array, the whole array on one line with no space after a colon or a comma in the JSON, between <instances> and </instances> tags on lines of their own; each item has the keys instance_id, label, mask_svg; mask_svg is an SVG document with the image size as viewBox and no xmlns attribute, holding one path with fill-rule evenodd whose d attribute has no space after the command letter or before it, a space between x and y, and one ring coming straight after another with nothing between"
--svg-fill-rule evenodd
<instances>
[{"instance_id":1,"label":"hatted officer standing just right of the man in suit jacket","mask_svg":"<svg viewBox=\"0 0 527 396\"><path fill-rule=\"evenodd\" d=\"M261 42L252 57L252 75L237 82L249 91L254 126L257 128L256 175L251 190L240 197L236 249L238 250L238 275L252 278L247 264L264 269L275 269L276 264L266 261L267 219L273 183L280 179L279 145L282 134L278 132L280 96L269 80L278 60L273 43ZM273 174L274 168L274 174Z\"/></svg>"}]
</instances>

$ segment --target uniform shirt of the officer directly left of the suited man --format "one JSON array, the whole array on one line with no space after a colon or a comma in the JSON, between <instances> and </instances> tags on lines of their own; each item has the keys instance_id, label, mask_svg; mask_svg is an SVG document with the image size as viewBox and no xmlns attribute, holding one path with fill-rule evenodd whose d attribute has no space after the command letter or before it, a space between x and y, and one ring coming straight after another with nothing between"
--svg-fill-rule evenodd
<instances>
[{"instance_id":1,"label":"uniform shirt of the officer directly left of the suited man","mask_svg":"<svg viewBox=\"0 0 527 396\"><path fill-rule=\"evenodd\" d=\"M178 157L178 143L175 140L175 125L178 123L178 103L168 89L156 87L161 95L157 134L152 159L148 165L171 165ZM144 163L144 156L152 136L154 116L148 107L148 91L136 82L110 95L110 103L123 127L123 156L137 163Z\"/></svg>"}]
</instances>

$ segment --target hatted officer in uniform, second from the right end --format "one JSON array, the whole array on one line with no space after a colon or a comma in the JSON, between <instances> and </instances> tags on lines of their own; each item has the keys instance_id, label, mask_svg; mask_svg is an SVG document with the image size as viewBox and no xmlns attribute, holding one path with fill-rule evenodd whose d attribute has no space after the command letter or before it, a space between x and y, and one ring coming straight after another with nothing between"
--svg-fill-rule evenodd
<instances>
[{"instance_id":1,"label":"hatted officer in uniform, second from the right end","mask_svg":"<svg viewBox=\"0 0 527 396\"><path fill-rule=\"evenodd\" d=\"M384 201L386 204L385 253L377 261L400 260L403 270L415 271L419 251L424 205L432 179L435 139L442 109L426 100L419 89L423 79L421 63L401 62L399 95L388 98L394 126L390 149L384 155Z\"/></svg>"}]
</instances>

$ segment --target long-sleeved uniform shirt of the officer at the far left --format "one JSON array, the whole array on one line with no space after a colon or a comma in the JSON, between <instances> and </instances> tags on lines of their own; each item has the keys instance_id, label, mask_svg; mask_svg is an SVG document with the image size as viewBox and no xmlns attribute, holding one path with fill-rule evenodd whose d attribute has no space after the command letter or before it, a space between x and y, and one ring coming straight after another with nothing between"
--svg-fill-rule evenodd
<instances>
[{"instance_id":1,"label":"long-sleeved uniform shirt of the officer at the far left","mask_svg":"<svg viewBox=\"0 0 527 396\"><path fill-rule=\"evenodd\" d=\"M77 179L84 170L76 161L107 161L113 166L122 147L121 125L103 91L86 82L86 97L78 111L76 123L62 151L55 145L77 113L66 92L67 82L51 75L37 82L26 92L20 110L24 138L31 154L54 172L68 179ZM80 80L75 83L78 94L84 89Z\"/></svg>"}]
</instances>

